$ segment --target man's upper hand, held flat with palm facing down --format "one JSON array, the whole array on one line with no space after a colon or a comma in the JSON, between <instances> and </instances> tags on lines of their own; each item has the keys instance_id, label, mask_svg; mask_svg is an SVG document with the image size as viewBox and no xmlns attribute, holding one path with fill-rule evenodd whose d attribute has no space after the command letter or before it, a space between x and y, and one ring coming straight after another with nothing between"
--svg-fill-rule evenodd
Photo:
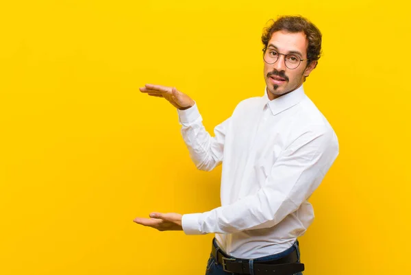
<instances>
[{"instance_id":1,"label":"man's upper hand, held flat with palm facing down","mask_svg":"<svg viewBox=\"0 0 411 275\"><path fill-rule=\"evenodd\" d=\"M152 97L164 97L179 110L186 110L195 104L194 100L192 100L188 95L178 91L176 88L145 84L144 87L140 88L140 92L147 93Z\"/></svg>"}]
</instances>

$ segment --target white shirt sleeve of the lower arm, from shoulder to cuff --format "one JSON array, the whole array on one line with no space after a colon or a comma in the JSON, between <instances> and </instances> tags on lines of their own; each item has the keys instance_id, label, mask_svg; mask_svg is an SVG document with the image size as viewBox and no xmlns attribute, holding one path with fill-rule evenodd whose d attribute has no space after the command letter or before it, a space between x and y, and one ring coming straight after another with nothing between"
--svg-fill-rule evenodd
<instances>
[{"instance_id":1,"label":"white shirt sleeve of the lower arm, from shoulder to cuff","mask_svg":"<svg viewBox=\"0 0 411 275\"><path fill-rule=\"evenodd\" d=\"M256 194L212 211L183 215L183 230L186 235L227 234L275 226L308 200L337 156L333 130L307 131L279 156Z\"/></svg>"}]
</instances>

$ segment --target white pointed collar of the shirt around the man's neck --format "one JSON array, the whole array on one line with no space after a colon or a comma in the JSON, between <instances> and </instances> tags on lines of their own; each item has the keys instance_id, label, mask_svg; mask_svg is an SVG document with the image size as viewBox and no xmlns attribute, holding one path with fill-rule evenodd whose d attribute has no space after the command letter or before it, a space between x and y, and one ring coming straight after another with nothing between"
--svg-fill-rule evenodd
<instances>
[{"instance_id":1,"label":"white pointed collar of the shirt around the man's neck","mask_svg":"<svg viewBox=\"0 0 411 275\"><path fill-rule=\"evenodd\" d=\"M280 112L299 104L306 97L303 85L299 86L296 90L273 100L269 99L269 95L267 93L269 93L269 91L265 88L264 95L262 96L264 108L265 106L270 108L273 115L277 115Z\"/></svg>"}]
</instances>

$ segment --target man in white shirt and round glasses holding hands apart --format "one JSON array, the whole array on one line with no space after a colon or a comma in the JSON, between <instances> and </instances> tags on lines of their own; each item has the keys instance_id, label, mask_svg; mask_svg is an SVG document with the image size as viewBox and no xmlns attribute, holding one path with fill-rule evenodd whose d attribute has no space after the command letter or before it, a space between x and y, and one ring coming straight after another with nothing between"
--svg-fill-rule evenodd
<instances>
[{"instance_id":1,"label":"man in white shirt and round glasses holding hands apart","mask_svg":"<svg viewBox=\"0 0 411 275\"><path fill-rule=\"evenodd\" d=\"M178 109L198 169L223 163L221 207L134 219L158 230L215 233L206 274L301 274L297 238L314 219L307 200L338 155L334 130L303 91L320 58L319 29L301 16L282 16L264 29L262 43L264 95L240 102L214 137L188 95L165 86L140 88Z\"/></svg>"}]
</instances>

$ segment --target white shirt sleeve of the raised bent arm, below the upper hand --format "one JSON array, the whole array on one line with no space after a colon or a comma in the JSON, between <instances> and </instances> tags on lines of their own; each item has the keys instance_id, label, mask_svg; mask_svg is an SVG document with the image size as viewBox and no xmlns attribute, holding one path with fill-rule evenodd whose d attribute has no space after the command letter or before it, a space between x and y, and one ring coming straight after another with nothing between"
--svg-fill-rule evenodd
<instances>
[{"instance_id":1,"label":"white shirt sleeve of the raised bent arm, below the upper hand","mask_svg":"<svg viewBox=\"0 0 411 275\"><path fill-rule=\"evenodd\" d=\"M224 141L229 119L214 128L211 136L203 126L197 103L186 110L178 110L184 143L197 169L211 171L223 161Z\"/></svg>"}]
</instances>

